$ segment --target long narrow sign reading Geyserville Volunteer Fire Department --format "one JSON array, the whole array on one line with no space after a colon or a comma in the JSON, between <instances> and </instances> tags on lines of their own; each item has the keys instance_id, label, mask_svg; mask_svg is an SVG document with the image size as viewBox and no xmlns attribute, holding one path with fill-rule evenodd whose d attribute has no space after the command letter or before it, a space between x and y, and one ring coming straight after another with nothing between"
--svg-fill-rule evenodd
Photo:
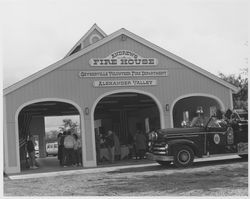
<instances>
[{"instance_id":1,"label":"long narrow sign reading Geyserville Volunteer Fire Department","mask_svg":"<svg viewBox=\"0 0 250 199\"><path fill-rule=\"evenodd\" d=\"M80 71L81 78L100 77L167 77L167 70L132 70L132 71Z\"/></svg>"}]
</instances>

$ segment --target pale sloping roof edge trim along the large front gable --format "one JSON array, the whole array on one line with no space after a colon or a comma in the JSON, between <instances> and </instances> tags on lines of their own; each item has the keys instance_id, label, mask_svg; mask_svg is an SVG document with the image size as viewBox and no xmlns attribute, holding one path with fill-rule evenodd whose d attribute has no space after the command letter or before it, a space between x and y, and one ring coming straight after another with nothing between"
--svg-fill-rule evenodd
<instances>
[{"instance_id":1,"label":"pale sloping roof edge trim along the large front gable","mask_svg":"<svg viewBox=\"0 0 250 199\"><path fill-rule=\"evenodd\" d=\"M135 35L134 33L122 28L122 29L110 34L109 36L106 36L105 38L97 41L96 43L93 43L92 45L82 49L81 51L79 51L77 53L74 53L71 56L65 57L65 58L59 60L58 62L56 62L56 63L54 63L54 64L52 64L52 65L50 65L50 66L48 66L48 67L46 67L46 68L44 68L44 69L42 69L40 71L34 73L33 75L30 75L27 78L24 78L23 80L21 80L21 81L15 83L15 84L5 88L3 94L7 95L8 93L13 92L14 90L16 90L16 89L30 83L31 81L33 81L33 80L35 80L35 79L37 79L37 78L39 78L39 77L41 77L41 76L43 76L45 74L57 69L57 68L59 68L60 66L62 66L64 64L66 64L66 63L68 63L68 62L70 62L70 61L72 61L72 60L86 54L87 52L89 52L91 50L94 50L95 48L98 48L99 46L111 41L112 39L114 39L114 38L116 38L116 37L118 37L120 35L126 35L126 36L136 40L137 42L139 42L139 43L141 43L141 44L143 44L145 46L148 46L149 48L151 48L151 49L153 49L153 50L155 50L155 51L157 51L157 52L159 52L159 53L161 53L161 54L163 54L163 55L165 55L165 56L167 56L167 57L169 57L169 58L171 58L171 59L173 59L173 60L175 60L175 61L177 61L177 62L179 62L179 63L181 63L183 65L185 65L185 66L187 66L188 68L190 68L190 69L192 69L192 70L194 70L194 71L208 77L209 79L212 79L215 82L217 82L217 83L231 89L233 92L238 91L237 87L235 87L232 84L229 84L228 82L220 79L216 75L213 75L212 73L209 73L208 71L206 71L206 70L204 70L204 69L202 69L202 68L200 68L200 67L198 67L198 66L196 66L196 65L194 65L194 64L192 64L192 63L190 63L190 62L188 62L188 61L186 61L184 59L182 59L181 57L178 57L177 55L174 55L173 53L171 53L169 51L166 51L165 49L163 49L163 48L161 48L161 47L159 47L159 46L157 46L157 45L143 39L142 37L139 37L138 35Z\"/></svg>"}]
</instances>

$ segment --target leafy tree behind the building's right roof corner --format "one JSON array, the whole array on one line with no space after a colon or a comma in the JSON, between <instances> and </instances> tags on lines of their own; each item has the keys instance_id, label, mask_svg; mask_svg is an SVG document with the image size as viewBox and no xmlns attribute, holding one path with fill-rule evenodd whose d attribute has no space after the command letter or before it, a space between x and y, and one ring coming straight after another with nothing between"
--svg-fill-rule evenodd
<instances>
[{"instance_id":1,"label":"leafy tree behind the building's right roof corner","mask_svg":"<svg viewBox=\"0 0 250 199\"><path fill-rule=\"evenodd\" d=\"M224 75L219 73L219 77L228 83L239 88L239 92L233 94L235 109L248 109L248 69L242 69L239 75Z\"/></svg>"}]
</instances>

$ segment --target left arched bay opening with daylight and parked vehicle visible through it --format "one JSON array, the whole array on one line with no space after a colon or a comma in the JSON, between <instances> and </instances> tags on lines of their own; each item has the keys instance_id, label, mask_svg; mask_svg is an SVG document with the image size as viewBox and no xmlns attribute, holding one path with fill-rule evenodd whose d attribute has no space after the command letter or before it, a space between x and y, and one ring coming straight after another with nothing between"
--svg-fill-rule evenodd
<instances>
[{"instance_id":1,"label":"left arched bay opening with daylight and parked vehicle visible through it","mask_svg":"<svg viewBox=\"0 0 250 199\"><path fill-rule=\"evenodd\" d=\"M60 135L71 132L81 140L79 112L65 102L46 101L25 106L18 115L18 128L21 171L61 170ZM30 140L35 162L30 157Z\"/></svg>"}]
</instances>

